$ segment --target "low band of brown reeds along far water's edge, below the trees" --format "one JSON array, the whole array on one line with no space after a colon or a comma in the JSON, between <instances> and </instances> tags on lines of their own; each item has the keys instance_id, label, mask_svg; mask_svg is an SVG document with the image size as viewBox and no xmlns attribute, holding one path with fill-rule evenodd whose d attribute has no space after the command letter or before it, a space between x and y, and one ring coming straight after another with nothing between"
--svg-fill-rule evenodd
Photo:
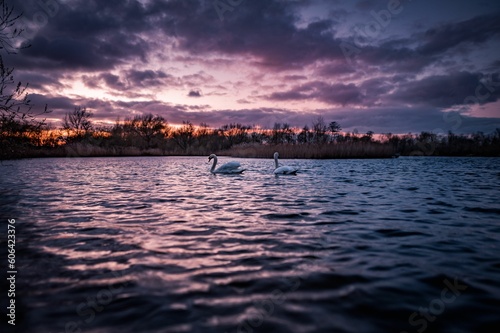
<instances>
[{"instance_id":1,"label":"low band of brown reeds along far water's edge, below the trees","mask_svg":"<svg viewBox=\"0 0 500 333\"><path fill-rule=\"evenodd\" d=\"M305 144L241 143L226 149L217 149L208 145L180 149L165 146L139 148L132 145L111 146L73 142L55 147L14 146L10 151L0 154L0 161L58 157L209 156L212 153L233 158L265 159L272 158L274 152L279 152L281 159L382 159L399 156L500 157L494 147L475 151L438 149L436 146L426 145L415 145L410 148L379 141Z\"/></svg>"}]
</instances>

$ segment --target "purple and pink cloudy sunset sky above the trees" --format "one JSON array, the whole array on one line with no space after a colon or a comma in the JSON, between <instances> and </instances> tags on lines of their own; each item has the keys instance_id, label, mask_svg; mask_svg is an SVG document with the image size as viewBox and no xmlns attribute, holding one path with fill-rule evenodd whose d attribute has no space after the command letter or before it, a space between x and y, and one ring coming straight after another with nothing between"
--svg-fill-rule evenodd
<instances>
[{"instance_id":1,"label":"purple and pink cloudy sunset sky above the trees","mask_svg":"<svg viewBox=\"0 0 500 333\"><path fill-rule=\"evenodd\" d=\"M491 133L500 128L496 0L7 0L34 110L97 123Z\"/></svg>"}]
</instances>

